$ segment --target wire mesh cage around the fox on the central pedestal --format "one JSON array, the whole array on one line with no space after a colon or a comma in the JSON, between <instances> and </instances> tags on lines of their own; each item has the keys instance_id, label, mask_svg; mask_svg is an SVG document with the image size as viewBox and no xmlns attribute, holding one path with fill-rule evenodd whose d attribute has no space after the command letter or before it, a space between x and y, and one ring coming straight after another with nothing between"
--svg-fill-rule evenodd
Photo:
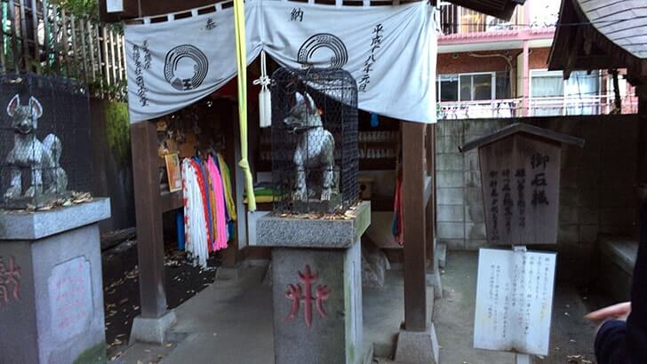
<instances>
[{"instance_id":1,"label":"wire mesh cage around the fox on the central pedestal","mask_svg":"<svg viewBox=\"0 0 647 364\"><path fill-rule=\"evenodd\" d=\"M342 69L272 75L272 180L280 213L338 213L359 197L357 84Z\"/></svg>"}]
</instances>

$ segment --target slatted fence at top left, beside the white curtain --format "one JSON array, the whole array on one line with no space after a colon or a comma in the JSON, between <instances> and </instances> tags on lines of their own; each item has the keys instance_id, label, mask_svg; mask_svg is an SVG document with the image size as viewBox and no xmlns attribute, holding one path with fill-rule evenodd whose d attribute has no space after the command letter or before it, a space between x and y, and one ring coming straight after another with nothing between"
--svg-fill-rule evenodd
<instances>
[{"instance_id":1,"label":"slatted fence at top left, beside the white curtain","mask_svg":"<svg viewBox=\"0 0 647 364\"><path fill-rule=\"evenodd\" d=\"M108 86L124 86L123 30L49 2L0 0L0 73L76 78L96 96L107 95Z\"/></svg>"}]
</instances>

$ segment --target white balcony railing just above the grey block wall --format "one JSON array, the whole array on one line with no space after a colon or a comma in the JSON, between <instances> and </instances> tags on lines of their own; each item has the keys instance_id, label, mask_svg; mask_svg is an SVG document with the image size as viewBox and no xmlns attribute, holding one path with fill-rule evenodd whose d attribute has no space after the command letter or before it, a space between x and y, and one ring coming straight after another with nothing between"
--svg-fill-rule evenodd
<instances>
[{"instance_id":1,"label":"white balcony railing just above the grey block wall","mask_svg":"<svg viewBox=\"0 0 647 364\"><path fill-rule=\"evenodd\" d=\"M638 112L638 98L627 95L621 114ZM617 113L613 95L443 101L438 104L438 120L512 118L522 116L608 115Z\"/></svg>"}]
</instances>

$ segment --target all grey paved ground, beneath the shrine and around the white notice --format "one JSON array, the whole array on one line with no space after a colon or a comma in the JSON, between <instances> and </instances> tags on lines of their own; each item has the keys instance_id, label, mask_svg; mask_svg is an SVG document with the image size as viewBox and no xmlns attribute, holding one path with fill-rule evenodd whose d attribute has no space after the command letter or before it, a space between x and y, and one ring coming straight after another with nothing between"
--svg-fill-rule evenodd
<instances>
[{"instance_id":1,"label":"all grey paved ground, beneath the shrine and around the white notice","mask_svg":"<svg viewBox=\"0 0 647 364\"><path fill-rule=\"evenodd\" d=\"M441 363L512 364L511 353L487 352L472 348L476 251L450 251L442 271L443 299L433 310L440 344ZM271 314L271 287L263 285L265 267L244 270L238 281L217 281L180 305L175 311L178 324L172 328L164 350L136 344L118 358L118 363L232 363L267 364L273 362L274 344ZM557 272L559 276L559 272ZM553 310L550 355L532 358L534 364L595 362L593 336L595 325L582 319L589 311L612 301L557 281ZM429 288L427 297L433 297ZM428 310L432 312L431 307ZM373 344L376 357L395 352L395 339L403 314L402 272L388 271L385 288L363 289L364 349ZM578 355L580 355L578 357ZM571 356L571 361L569 361ZM395 363L376 358L377 362ZM401 364L401 363L396 363Z\"/></svg>"}]
</instances>

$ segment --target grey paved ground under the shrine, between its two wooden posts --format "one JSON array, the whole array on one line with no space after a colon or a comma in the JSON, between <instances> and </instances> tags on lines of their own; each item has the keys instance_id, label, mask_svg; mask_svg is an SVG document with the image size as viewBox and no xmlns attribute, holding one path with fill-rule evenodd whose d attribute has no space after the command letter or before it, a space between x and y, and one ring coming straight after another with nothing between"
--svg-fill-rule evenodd
<instances>
[{"instance_id":1,"label":"grey paved ground under the shrine, between its two wooden posts","mask_svg":"<svg viewBox=\"0 0 647 364\"><path fill-rule=\"evenodd\" d=\"M245 268L240 280L216 281L176 308L178 323L169 335L172 342L163 346L165 350L135 344L113 362L273 362L272 288L262 284L266 269ZM433 289L428 289L427 297L434 297ZM368 352L371 344L376 355L395 352L395 339L404 319L403 299L399 271L387 272L384 289L363 289L363 352Z\"/></svg>"}]
</instances>

